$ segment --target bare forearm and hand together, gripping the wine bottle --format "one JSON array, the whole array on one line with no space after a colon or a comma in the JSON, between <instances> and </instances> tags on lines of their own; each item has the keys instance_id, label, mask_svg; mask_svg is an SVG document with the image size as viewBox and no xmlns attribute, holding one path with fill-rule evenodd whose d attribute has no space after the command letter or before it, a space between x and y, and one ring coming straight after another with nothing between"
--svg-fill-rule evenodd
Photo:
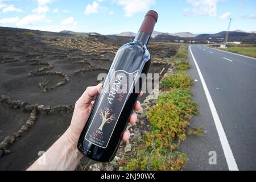
<instances>
[{"instance_id":1,"label":"bare forearm and hand together, gripping the wine bottle","mask_svg":"<svg viewBox=\"0 0 256 182\"><path fill-rule=\"evenodd\" d=\"M93 98L100 92L102 84L86 88L84 94L76 101L71 125L67 131L27 170L75 170L82 158L81 152L77 149L77 141L82 129L89 117L93 106ZM140 94L142 96L142 93ZM137 102L135 110L141 109ZM130 123L135 123L136 114L131 115ZM122 140L127 142L130 137L129 131L123 134Z\"/></svg>"}]
</instances>

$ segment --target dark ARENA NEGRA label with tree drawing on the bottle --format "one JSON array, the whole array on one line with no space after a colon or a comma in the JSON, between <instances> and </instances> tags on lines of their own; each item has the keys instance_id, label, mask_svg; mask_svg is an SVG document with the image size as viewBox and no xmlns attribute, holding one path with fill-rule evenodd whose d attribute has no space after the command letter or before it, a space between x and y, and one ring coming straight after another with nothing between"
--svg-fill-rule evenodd
<instances>
[{"instance_id":1,"label":"dark ARENA NEGRA label with tree drawing on the bottle","mask_svg":"<svg viewBox=\"0 0 256 182\"><path fill-rule=\"evenodd\" d=\"M133 73L118 70L110 76L110 80L106 82L108 85L104 86L99 98L97 112L85 134L86 140L98 147L108 147L115 125L137 78L138 70Z\"/></svg>"}]
</instances>

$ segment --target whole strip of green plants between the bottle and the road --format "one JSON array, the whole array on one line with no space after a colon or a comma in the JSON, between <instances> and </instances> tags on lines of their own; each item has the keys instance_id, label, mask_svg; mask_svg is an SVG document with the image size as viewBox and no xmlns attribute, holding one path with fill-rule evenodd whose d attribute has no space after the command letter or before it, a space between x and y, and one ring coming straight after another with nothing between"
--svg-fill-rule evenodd
<instances>
[{"instance_id":1,"label":"whole strip of green plants between the bottle and the road","mask_svg":"<svg viewBox=\"0 0 256 182\"><path fill-rule=\"evenodd\" d=\"M149 129L138 139L134 152L120 161L123 170L181 170L187 155L178 150L187 135L203 135L203 127L191 127L189 120L199 114L196 102L191 100L192 78L186 69L187 46L180 46L175 57L169 58L176 65L175 75L168 75L161 82L162 92L155 105L146 113Z\"/></svg>"}]
</instances>

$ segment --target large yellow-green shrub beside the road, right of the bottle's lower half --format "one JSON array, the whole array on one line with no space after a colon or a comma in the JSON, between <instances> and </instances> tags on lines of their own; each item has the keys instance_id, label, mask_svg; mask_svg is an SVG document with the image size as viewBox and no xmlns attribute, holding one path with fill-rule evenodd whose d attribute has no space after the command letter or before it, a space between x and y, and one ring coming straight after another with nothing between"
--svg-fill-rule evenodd
<instances>
[{"instance_id":1,"label":"large yellow-green shrub beside the road, right of the bottle's lower half","mask_svg":"<svg viewBox=\"0 0 256 182\"><path fill-rule=\"evenodd\" d=\"M148 110L147 117L154 130L158 129L163 135L182 141L190 126L188 121L198 113L188 90L173 89L156 100L156 105Z\"/></svg>"}]
</instances>

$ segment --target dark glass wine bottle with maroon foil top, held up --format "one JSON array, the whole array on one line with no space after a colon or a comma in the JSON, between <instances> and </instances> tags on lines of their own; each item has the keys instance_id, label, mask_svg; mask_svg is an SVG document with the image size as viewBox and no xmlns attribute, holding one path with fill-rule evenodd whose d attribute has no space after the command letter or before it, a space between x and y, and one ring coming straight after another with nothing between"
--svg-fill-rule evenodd
<instances>
[{"instance_id":1,"label":"dark glass wine bottle with maroon foil top, held up","mask_svg":"<svg viewBox=\"0 0 256 182\"><path fill-rule=\"evenodd\" d=\"M158 14L148 11L137 36L118 49L104 80L77 147L82 154L98 162L110 162L118 150L134 105L150 68L150 39ZM136 92L136 88L137 92Z\"/></svg>"}]
</instances>

